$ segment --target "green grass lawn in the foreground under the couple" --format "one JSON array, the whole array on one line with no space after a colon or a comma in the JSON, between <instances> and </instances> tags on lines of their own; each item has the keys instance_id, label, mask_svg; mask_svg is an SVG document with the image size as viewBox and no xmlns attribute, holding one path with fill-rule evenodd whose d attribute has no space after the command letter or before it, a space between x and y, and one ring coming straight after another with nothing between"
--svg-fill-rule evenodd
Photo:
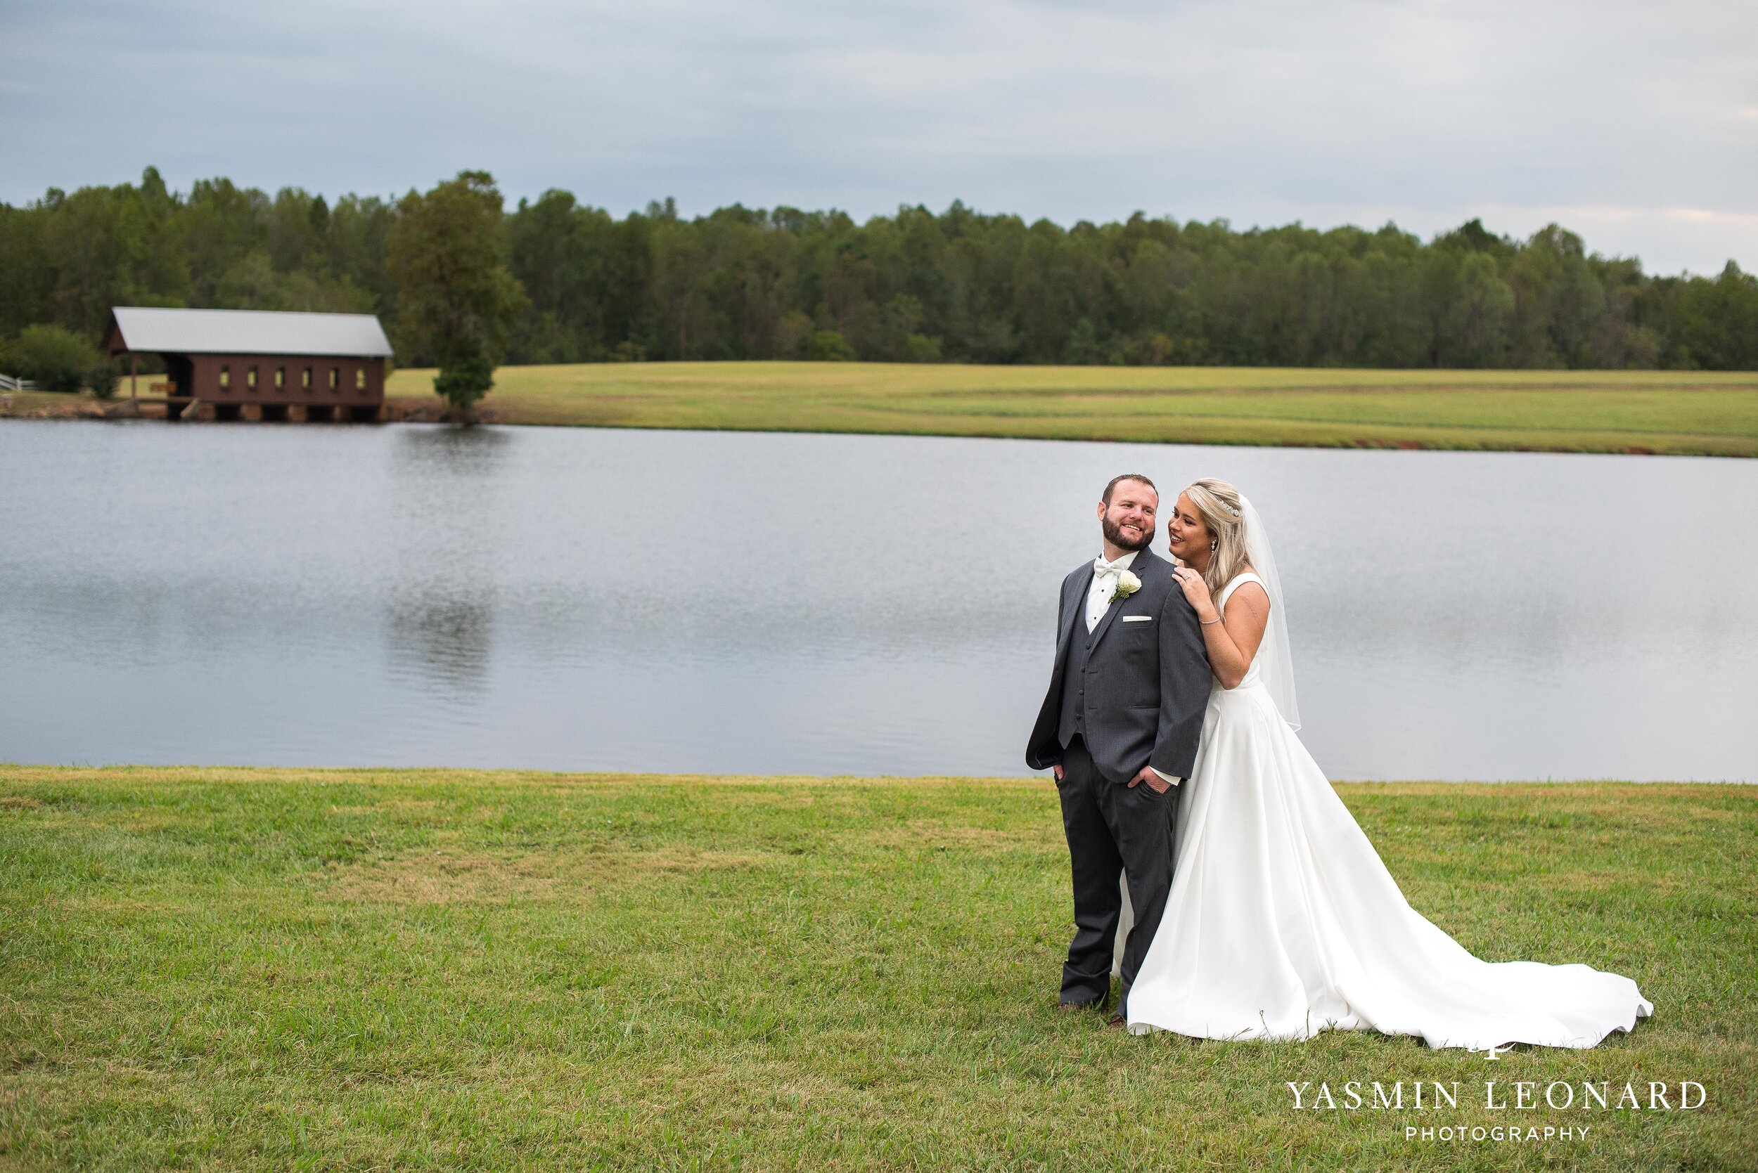
<instances>
[{"instance_id":1,"label":"green grass lawn in the foreground under the couple","mask_svg":"<svg viewBox=\"0 0 1758 1173\"><path fill-rule=\"evenodd\" d=\"M1468 948L1656 1017L1491 1062L1062 1015L1048 781L5 766L0 1168L1753 1168L1758 790L1340 790ZM1487 1112L1486 1078L1709 1101ZM1510 1119L1589 1133L1403 1131Z\"/></svg>"}]
</instances>

